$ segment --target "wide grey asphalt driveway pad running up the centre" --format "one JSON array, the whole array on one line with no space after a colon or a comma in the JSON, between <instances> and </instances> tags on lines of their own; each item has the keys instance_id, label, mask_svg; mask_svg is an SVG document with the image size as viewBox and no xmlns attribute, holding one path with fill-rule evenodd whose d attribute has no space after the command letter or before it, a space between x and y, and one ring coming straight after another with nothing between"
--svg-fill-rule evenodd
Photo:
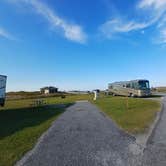
<instances>
[{"instance_id":1,"label":"wide grey asphalt driveway pad running up the centre","mask_svg":"<svg viewBox=\"0 0 166 166\"><path fill-rule=\"evenodd\" d=\"M136 166L142 148L89 102L57 119L17 166Z\"/></svg>"}]
</instances>

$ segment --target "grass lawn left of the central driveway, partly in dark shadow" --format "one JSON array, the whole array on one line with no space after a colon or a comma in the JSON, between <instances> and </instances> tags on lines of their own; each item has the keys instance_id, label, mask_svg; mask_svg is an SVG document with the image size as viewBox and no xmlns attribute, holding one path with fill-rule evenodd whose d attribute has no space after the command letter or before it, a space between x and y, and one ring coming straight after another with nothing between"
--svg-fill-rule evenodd
<instances>
[{"instance_id":1,"label":"grass lawn left of the central driveway, partly in dark shadow","mask_svg":"<svg viewBox=\"0 0 166 166\"><path fill-rule=\"evenodd\" d=\"M45 98L48 105L66 104L90 99L89 95ZM51 106L32 108L34 99L7 100L0 108L0 166L11 166L27 151L64 109Z\"/></svg>"}]
</instances>

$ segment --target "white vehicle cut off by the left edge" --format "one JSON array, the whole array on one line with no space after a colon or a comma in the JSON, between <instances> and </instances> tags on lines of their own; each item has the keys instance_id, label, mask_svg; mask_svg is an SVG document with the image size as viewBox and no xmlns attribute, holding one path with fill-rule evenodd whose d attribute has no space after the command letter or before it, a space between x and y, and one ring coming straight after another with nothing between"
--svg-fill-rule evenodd
<instances>
[{"instance_id":1,"label":"white vehicle cut off by the left edge","mask_svg":"<svg viewBox=\"0 0 166 166\"><path fill-rule=\"evenodd\" d=\"M0 106L5 104L7 76L0 75Z\"/></svg>"}]
</instances>

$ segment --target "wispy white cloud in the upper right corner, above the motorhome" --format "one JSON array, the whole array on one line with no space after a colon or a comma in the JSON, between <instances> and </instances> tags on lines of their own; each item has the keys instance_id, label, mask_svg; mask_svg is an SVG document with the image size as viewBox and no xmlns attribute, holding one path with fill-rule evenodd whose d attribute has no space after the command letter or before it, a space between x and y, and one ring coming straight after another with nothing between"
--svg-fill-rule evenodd
<instances>
[{"instance_id":1,"label":"wispy white cloud in the upper right corner, above the motorhome","mask_svg":"<svg viewBox=\"0 0 166 166\"><path fill-rule=\"evenodd\" d=\"M154 25L159 33L160 42L166 43L166 0L141 0L136 7L138 12L145 13L144 19L124 20L119 16L115 17L100 26L103 35L111 38L115 34L142 31Z\"/></svg>"}]
</instances>

